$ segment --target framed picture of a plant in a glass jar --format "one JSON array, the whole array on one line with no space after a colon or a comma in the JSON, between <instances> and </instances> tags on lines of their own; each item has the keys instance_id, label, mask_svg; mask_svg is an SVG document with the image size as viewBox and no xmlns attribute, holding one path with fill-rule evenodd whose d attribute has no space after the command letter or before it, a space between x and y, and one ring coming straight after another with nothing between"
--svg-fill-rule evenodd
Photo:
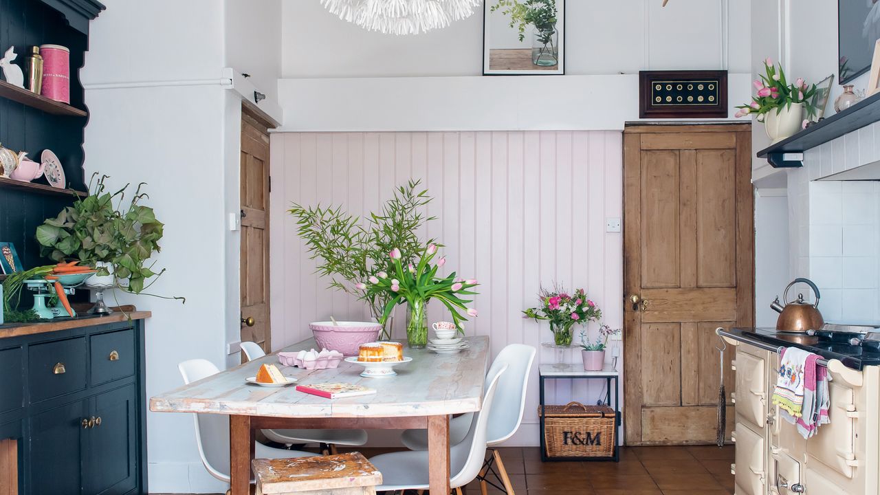
<instances>
[{"instance_id":1,"label":"framed picture of a plant in a glass jar","mask_svg":"<svg viewBox=\"0 0 880 495\"><path fill-rule=\"evenodd\" d=\"M486 0L483 75L565 74L565 0Z\"/></svg>"}]
</instances>

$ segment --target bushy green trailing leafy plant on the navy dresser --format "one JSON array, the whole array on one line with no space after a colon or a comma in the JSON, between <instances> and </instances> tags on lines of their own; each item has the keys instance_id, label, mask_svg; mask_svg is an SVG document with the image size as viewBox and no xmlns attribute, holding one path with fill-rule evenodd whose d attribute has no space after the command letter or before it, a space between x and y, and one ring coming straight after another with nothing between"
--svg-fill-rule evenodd
<instances>
[{"instance_id":1,"label":"bushy green trailing leafy plant on the navy dresser","mask_svg":"<svg viewBox=\"0 0 880 495\"><path fill-rule=\"evenodd\" d=\"M137 185L135 195L127 202L125 191L130 184L109 192L109 176L97 177L97 173L92 174L91 195L78 198L73 206L37 227L37 241L43 255L56 262L78 259L81 265L97 268L99 276L112 272L121 289L142 293L165 272L154 271L155 262L150 262L150 256L161 250L158 241L162 239L164 225L156 219L152 208L140 204L149 198L141 192L145 182ZM147 284L150 278L152 281Z\"/></svg>"}]
</instances>

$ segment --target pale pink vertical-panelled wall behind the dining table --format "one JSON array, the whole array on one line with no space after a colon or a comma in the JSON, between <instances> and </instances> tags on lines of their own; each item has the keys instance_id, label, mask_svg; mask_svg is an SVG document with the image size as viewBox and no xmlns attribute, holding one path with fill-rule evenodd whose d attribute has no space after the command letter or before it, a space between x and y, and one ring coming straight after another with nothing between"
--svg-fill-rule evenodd
<instances>
[{"instance_id":1,"label":"pale pink vertical-panelled wall behind the dining table","mask_svg":"<svg viewBox=\"0 0 880 495\"><path fill-rule=\"evenodd\" d=\"M520 313L536 305L541 284L554 281L584 287L605 322L620 328L622 237L605 233L605 218L622 214L622 151L619 132L273 134L273 347L311 336L310 321L368 316L362 303L331 292L314 274L285 211L290 203L341 204L363 215L410 178L422 179L435 198L428 215L437 219L426 235L446 245L444 270L480 281L473 303L480 316L466 324L468 335L491 336L494 353L506 344L530 344L539 349L538 363L554 362L553 352L540 347L551 340L546 323ZM447 318L442 307L429 307L430 321ZM399 308L396 337L405 337L405 320ZM574 351L568 358L581 356ZM532 372L524 425L508 445L536 445L539 438L537 363ZM548 384L548 400L599 398L598 386L582 385Z\"/></svg>"}]
</instances>

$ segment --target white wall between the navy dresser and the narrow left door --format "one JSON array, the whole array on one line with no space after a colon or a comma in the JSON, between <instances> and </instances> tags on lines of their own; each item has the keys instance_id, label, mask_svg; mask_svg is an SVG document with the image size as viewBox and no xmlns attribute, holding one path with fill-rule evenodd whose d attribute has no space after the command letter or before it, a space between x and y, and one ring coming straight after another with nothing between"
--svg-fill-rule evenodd
<instances>
[{"instance_id":1,"label":"white wall between the navy dresser and the narrow left door","mask_svg":"<svg viewBox=\"0 0 880 495\"><path fill-rule=\"evenodd\" d=\"M82 79L90 120L86 174L114 184L146 181L165 222L150 292L187 297L186 305L146 296L120 301L153 312L147 321L147 396L182 384L177 364L207 358L238 363L238 211L240 98L224 89L224 67L253 74L275 94L279 72L278 1L139 2L109 0L91 24ZM168 15L168 12L174 15ZM255 30L264 25L264 29ZM249 34L249 35L248 35ZM152 492L225 491L202 467L189 415L147 414Z\"/></svg>"}]
</instances>

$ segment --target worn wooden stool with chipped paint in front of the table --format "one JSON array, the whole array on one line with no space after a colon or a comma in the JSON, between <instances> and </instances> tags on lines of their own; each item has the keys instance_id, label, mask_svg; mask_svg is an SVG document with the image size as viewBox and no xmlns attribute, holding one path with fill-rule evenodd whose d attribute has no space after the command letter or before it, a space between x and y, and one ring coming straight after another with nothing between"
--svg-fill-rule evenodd
<instances>
[{"instance_id":1,"label":"worn wooden stool with chipped paint in front of the table","mask_svg":"<svg viewBox=\"0 0 880 495\"><path fill-rule=\"evenodd\" d=\"M382 473L359 452L296 459L254 459L256 495L375 495Z\"/></svg>"}]
</instances>

